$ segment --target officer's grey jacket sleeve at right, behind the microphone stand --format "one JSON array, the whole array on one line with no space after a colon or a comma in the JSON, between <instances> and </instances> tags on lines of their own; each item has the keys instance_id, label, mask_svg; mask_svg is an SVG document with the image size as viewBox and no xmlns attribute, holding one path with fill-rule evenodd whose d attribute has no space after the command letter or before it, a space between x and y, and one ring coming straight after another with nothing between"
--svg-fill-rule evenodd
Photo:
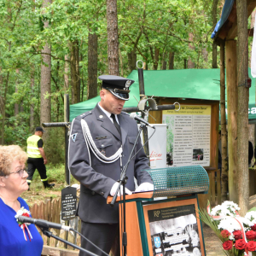
<instances>
[{"instance_id":1,"label":"officer's grey jacket sleeve at right, behind the microphone stand","mask_svg":"<svg viewBox=\"0 0 256 256\"><path fill-rule=\"evenodd\" d=\"M135 129L137 129L137 124ZM136 159L135 159L135 177L137 178L137 183L140 185L141 183L152 183L152 178L148 174L148 172L143 171L143 170L148 170L150 169L149 166L149 160L147 158L147 155L145 154L143 145L141 143L141 139L139 138L137 147L136 147Z\"/></svg>"}]
</instances>

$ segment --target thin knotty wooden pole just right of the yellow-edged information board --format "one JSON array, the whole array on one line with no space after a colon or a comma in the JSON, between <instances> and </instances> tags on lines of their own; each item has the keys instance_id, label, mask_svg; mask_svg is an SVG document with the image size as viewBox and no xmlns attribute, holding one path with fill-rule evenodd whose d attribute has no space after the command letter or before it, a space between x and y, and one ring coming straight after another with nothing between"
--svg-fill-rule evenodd
<instances>
[{"instance_id":1,"label":"thin knotty wooden pole just right of the yellow-edged information board","mask_svg":"<svg viewBox=\"0 0 256 256\"><path fill-rule=\"evenodd\" d=\"M220 43L220 119L221 119L221 201L227 200L228 193L228 159L227 159L227 125L225 104L225 43Z\"/></svg>"}]
</instances>

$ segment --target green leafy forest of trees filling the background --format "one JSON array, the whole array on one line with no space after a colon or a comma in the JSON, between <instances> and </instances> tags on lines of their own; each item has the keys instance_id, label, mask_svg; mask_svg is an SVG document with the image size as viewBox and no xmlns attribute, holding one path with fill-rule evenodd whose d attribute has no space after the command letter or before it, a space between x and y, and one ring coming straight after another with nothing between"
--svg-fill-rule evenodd
<instances>
[{"instance_id":1,"label":"green leafy forest of trees filling the background","mask_svg":"<svg viewBox=\"0 0 256 256\"><path fill-rule=\"evenodd\" d=\"M110 73L112 2L0 0L1 144L25 148L36 126L64 121L64 94L71 104L98 95L97 77ZM223 5L224 0L117 1L115 73L128 76L137 60L148 70L217 68L218 49L210 37ZM63 128L48 129L44 141L49 162L64 163Z\"/></svg>"}]
</instances>

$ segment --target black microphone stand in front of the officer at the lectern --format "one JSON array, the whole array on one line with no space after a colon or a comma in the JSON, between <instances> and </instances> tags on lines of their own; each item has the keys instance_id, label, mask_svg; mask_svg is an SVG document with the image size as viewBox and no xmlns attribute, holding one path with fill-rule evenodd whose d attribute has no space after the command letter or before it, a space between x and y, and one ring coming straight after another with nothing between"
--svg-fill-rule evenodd
<instances>
[{"instance_id":1,"label":"black microphone stand in front of the officer at the lectern","mask_svg":"<svg viewBox=\"0 0 256 256\"><path fill-rule=\"evenodd\" d=\"M120 186L121 184L123 185L123 206L124 206L124 217L123 217L123 222L124 222L124 231L123 231L123 238L122 238L122 241L123 241L123 247L124 247L124 255L126 256L126 250L127 250L127 234L126 234L126 224L125 224L125 221L126 221L126 214L125 214L125 183L127 182L127 179L128 177L126 177L126 170L130 164L130 161L131 161L131 155L132 153L134 152L134 149L136 147L136 144L137 144L137 140L138 138L140 137L140 134L141 132L143 131L143 127L145 125L143 123L141 123L140 125L140 128L139 128L139 131L137 133L137 138L135 140L135 143L133 145L133 148L131 149L131 154L129 156L129 159L127 161L127 164L125 165L123 171L121 172L121 176L120 176L120 179L119 179L119 185L118 185L118 188L116 189L115 191L115 194L113 195L113 199L110 203L110 205L113 207L115 201L116 201L116 198L117 198L117 195L119 193L119 189L120 189Z\"/></svg>"}]
</instances>

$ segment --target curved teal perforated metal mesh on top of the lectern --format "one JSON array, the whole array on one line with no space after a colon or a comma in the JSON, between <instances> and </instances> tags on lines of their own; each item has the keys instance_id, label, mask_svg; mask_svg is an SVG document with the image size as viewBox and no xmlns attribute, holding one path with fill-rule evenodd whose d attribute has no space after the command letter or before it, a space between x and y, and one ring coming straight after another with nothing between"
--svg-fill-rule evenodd
<instances>
[{"instance_id":1,"label":"curved teal perforated metal mesh on top of the lectern","mask_svg":"<svg viewBox=\"0 0 256 256\"><path fill-rule=\"evenodd\" d=\"M153 197L206 194L209 177L202 166L181 166L143 170L154 182Z\"/></svg>"}]
</instances>

